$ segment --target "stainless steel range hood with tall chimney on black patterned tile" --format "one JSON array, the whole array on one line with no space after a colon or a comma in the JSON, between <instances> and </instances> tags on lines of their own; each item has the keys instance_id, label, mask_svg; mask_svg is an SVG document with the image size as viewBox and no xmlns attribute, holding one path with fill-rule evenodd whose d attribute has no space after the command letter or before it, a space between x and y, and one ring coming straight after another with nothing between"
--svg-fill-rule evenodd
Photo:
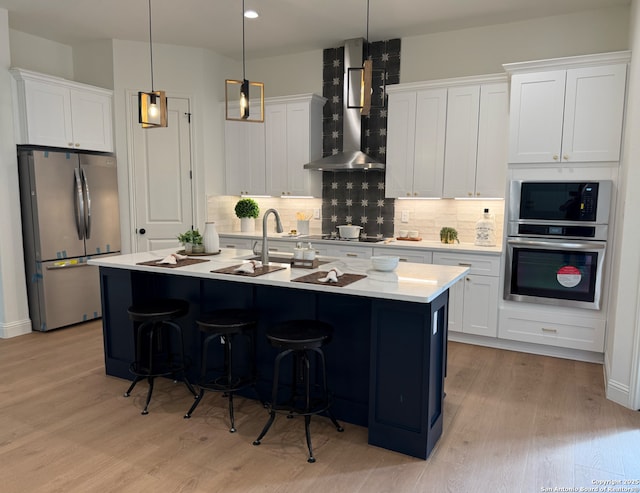
<instances>
[{"instance_id":1,"label":"stainless steel range hood with tall chimney on black patterned tile","mask_svg":"<svg viewBox=\"0 0 640 493\"><path fill-rule=\"evenodd\" d=\"M362 66L363 43L364 40L362 38L349 39L345 41L345 77L347 68ZM357 91L359 89L358 84L351 84L350 87L352 91ZM343 93L342 98L344 110L342 148L344 150L337 154L311 161L304 165L304 169L320 171L352 171L367 169L384 170L384 163L381 163L360 150L362 135L362 117L360 116L360 109L347 108L346 80L344 90L345 93ZM353 101L359 101L360 95L352 94L351 99Z\"/></svg>"}]
</instances>

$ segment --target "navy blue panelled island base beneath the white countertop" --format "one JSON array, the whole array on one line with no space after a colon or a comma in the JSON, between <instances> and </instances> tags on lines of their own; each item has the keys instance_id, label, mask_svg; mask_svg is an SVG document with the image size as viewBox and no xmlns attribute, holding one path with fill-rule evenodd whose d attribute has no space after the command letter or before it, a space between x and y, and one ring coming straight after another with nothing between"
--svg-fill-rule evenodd
<instances>
[{"instance_id":1,"label":"navy blue panelled island base beneath the white countertop","mask_svg":"<svg viewBox=\"0 0 640 493\"><path fill-rule=\"evenodd\" d=\"M131 380L134 327L127 307L146 299L189 301L181 325L192 381L201 349L196 318L220 308L256 309L261 396L269 395L276 354L267 342L267 328L315 318L334 327L325 354L332 410L339 420L366 426L371 445L421 459L442 434L448 289L431 303L417 303L354 296L341 288L326 292L105 266L100 266L100 279L108 375ZM247 392L247 397L255 394Z\"/></svg>"}]
</instances>

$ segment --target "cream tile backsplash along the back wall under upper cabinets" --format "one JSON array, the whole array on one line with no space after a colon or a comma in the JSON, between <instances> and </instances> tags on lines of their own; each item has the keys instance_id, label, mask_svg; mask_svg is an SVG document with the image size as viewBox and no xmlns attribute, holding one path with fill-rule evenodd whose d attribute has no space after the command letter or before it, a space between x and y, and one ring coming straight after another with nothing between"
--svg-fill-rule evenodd
<instances>
[{"instance_id":1,"label":"cream tile backsplash along the back wall under upper cabinets","mask_svg":"<svg viewBox=\"0 0 640 493\"><path fill-rule=\"evenodd\" d=\"M369 172L367 172L369 173ZM382 195L384 196L384 195ZM237 196L210 196L207 201L207 217L215 221L220 233L240 232L240 219L235 216L234 207ZM324 199L326 200L326 199ZM439 241L440 228L449 226L458 230L458 237L462 243L473 243L475 239L476 221L482 217L485 208L495 215L496 238L502 238L504 221L504 200L395 200L393 217L386 218L384 236L397 236L401 229L417 230L424 240ZM327 206L323 199L282 199L275 197L256 198L260 206L260 217L256 220L256 234L262 234L262 213L273 207L278 210L285 231L297 227L296 212L313 215L314 210L321 211L322 219L312 219L309 223L310 234L322 232L323 221L326 221ZM355 209L354 209L355 210ZM408 222L403 223L402 213L408 215ZM269 218L269 228L275 230L273 218ZM333 223L332 223L333 224ZM335 226L343 224L336 222ZM354 221L354 224L356 222ZM391 224L391 227L389 227ZM200 225L204 228L204 224Z\"/></svg>"}]
</instances>

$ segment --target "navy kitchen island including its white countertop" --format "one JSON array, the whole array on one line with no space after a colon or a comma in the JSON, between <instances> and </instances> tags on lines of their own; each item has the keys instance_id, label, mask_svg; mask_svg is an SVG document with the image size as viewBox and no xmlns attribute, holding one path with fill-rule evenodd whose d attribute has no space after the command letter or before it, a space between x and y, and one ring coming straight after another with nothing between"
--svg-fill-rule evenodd
<instances>
[{"instance_id":1,"label":"navy kitchen island including its white countertop","mask_svg":"<svg viewBox=\"0 0 640 493\"><path fill-rule=\"evenodd\" d=\"M212 272L246 262L248 250L223 249L175 268L155 264L174 249L91 260L100 267L105 367L131 379L133 323L127 307L155 297L189 301L181 320L185 350L197 379L200 335L196 318L219 308L253 308L258 326L258 391L269 395L275 350L265 332L290 319L312 318L334 327L326 347L329 385L338 419L368 427L368 440L426 459L442 434L448 289L465 267L401 262L394 272L369 260L322 259L317 269L287 264L261 276ZM151 263L151 265L149 265ZM355 282L344 286L297 279L336 267ZM250 397L251 395L248 394Z\"/></svg>"}]
</instances>

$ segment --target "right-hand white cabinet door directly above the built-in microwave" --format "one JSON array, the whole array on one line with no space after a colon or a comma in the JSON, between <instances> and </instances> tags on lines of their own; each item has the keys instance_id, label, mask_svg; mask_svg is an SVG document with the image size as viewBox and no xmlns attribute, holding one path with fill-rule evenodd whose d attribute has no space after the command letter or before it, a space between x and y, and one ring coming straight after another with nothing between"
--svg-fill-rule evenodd
<instances>
[{"instance_id":1,"label":"right-hand white cabinet door directly above the built-in microwave","mask_svg":"<svg viewBox=\"0 0 640 493\"><path fill-rule=\"evenodd\" d=\"M562 161L619 161L627 66L567 71Z\"/></svg>"}]
</instances>

